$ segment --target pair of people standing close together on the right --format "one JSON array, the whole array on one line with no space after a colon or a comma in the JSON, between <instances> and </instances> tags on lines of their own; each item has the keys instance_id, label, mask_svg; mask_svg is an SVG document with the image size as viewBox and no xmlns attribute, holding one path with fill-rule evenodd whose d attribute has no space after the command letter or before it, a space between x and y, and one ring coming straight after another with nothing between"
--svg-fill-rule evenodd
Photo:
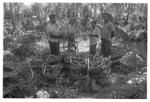
<instances>
[{"instance_id":1,"label":"pair of people standing close together on the right","mask_svg":"<svg viewBox=\"0 0 150 102\"><path fill-rule=\"evenodd\" d=\"M103 27L100 27L96 21L91 22L92 30L90 33L90 55L95 56L97 41L101 37L101 51L103 57L111 56L111 39L115 35L115 28L112 23L112 16L109 13L102 15L104 20Z\"/></svg>"}]
</instances>

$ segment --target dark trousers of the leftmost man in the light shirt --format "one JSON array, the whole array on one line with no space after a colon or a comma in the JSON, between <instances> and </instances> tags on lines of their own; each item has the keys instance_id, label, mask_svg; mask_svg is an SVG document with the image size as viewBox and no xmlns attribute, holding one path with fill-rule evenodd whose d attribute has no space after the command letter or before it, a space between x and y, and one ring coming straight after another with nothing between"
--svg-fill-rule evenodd
<instances>
[{"instance_id":1,"label":"dark trousers of the leftmost man in the light shirt","mask_svg":"<svg viewBox=\"0 0 150 102\"><path fill-rule=\"evenodd\" d=\"M60 54L60 48L58 42L51 42L49 41L50 51L52 55L59 55Z\"/></svg>"}]
</instances>

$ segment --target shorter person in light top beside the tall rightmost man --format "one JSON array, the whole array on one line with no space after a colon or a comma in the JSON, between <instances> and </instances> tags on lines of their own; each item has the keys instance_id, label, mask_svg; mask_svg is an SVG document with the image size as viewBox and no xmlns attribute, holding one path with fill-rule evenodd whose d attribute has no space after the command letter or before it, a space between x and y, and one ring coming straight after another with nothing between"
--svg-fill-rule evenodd
<instances>
[{"instance_id":1,"label":"shorter person in light top beside the tall rightmost man","mask_svg":"<svg viewBox=\"0 0 150 102\"><path fill-rule=\"evenodd\" d=\"M98 37L100 35L100 29L96 26L96 21L91 22L91 34L90 36L90 55L95 56L96 54L96 45L98 41Z\"/></svg>"}]
</instances>

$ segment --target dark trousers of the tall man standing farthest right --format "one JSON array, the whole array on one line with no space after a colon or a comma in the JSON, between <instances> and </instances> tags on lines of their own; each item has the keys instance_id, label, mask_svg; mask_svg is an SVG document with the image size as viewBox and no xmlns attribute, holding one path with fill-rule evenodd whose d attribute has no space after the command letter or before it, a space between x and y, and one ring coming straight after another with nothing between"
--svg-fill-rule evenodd
<instances>
[{"instance_id":1,"label":"dark trousers of the tall man standing farthest right","mask_svg":"<svg viewBox=\"0 0 150 102\"><path fill-rule=\"evenodd\" d=\"M101 40L101 54L103 55L103 57L108 57L111 55L111 46L112 43L109 40L106 39L102 39Z\"/></svg>"}]
</instances>

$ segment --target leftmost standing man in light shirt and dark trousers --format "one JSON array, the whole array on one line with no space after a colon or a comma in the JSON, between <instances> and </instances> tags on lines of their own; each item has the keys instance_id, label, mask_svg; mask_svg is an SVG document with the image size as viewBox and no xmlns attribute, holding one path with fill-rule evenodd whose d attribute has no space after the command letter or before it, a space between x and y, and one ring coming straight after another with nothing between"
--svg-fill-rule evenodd
<instances>
[{"instance_id":1,"label":"leftmost standing man in light shirt and dark trousers","mask_svg":"<svg viewBox=\"0 0 150 102\"><path fill-rule=\"evenodd\" d=\"M57 56L60 54L59 39L62 37L62 32L59 31L59 27L56 24L56 15L51 14L49 19L50 21L46 26L46 32L49 37L50 52L52 55Z\"/></svg>"}]
</instances>

